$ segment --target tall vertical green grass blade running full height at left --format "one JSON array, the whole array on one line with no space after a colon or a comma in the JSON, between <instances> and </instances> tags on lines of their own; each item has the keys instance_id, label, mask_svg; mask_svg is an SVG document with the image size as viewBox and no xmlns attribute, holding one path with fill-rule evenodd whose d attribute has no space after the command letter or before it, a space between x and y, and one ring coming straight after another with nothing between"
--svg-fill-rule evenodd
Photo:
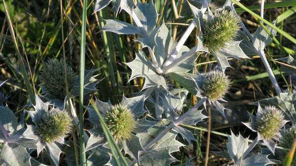
<instances>
[{"instance_id":1,"label":"tall vertical green grass blade running full height at left","mask_svg":"<svg viewBox=\"0 0 296 166\"><path fill-rule=\"evenodd\" d=\"M84 68L85 68L85 38L86 38L86 10L87 0L83 0L81 42L80 42L80 94L79 94L79 121L80 121L80 165L86 166L85 139L83 133L83 90L84 90Z\"/></svg>"}]
</instances>

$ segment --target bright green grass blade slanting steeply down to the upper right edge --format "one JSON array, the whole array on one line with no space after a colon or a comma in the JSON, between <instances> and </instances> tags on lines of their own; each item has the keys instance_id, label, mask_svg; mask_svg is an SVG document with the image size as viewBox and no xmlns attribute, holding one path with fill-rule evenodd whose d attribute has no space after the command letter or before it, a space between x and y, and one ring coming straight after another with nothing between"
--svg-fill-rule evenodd
<instances>
[{"instance_id":1,"label":"bright green grass blade slanting steeply down to the upper right edge","mask_svg":"<svg viewBox=\"0 0 296 166\"><path fill-rule=\"evenodd\" d=\"M231 0L231 2L233 2L234 4L236 4L237 6L239 6L240 8L242 8L243 10L245 10L246 12L250 13L253 17L259 19L260 21L263 21L265 24L267 24L268 26L272 27L272 29L276 30L278 33L282 34L288 40L290 40L291 42L293 42L294 44L296 44L296 39L295 38L293 38L291 35L289 35L285 31L279 29L273 23L270 23L266 19L260 17L258 14L254 13L252 10L248 9L247 7L245 7L244 5L242 5L241 3L237 2L236 0Z\"/></svg>"}]
</instances>

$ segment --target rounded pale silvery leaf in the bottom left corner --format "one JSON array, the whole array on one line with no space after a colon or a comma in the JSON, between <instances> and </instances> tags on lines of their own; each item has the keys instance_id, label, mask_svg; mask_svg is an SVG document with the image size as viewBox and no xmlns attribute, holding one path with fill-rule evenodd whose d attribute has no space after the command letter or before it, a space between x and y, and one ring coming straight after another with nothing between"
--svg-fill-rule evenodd
<instances>
[{"instance_id":1,"label":"rounded pale silvery leaf in the bottom left corner","mask_svg":"<svg viewBox=\"0 0 296 166\"><path fill-rule=\"evenodd\" d=\"M26 148L17 144L4 144L1 148L1 158L8 165L31 166L31 156Z\"/></svg>"}]
</instances>

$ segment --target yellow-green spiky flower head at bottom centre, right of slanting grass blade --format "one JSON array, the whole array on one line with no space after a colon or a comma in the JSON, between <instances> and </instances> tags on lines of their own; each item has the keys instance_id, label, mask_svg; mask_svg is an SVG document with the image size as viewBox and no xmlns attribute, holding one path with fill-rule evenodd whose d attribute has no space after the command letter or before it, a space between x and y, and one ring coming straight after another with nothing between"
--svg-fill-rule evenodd
<instances>
[{"instance_id":1,"label":"yellow-green spiky flower head at bottom centre, right of slanting grass blade","mask_svg":"<svg viewBox=\"0 0 296 166\"><path fill-rule=\"evenodd\" d=\"M105 121L118 142L130 140L137 124L131 110L120 104L106 112Z\"/></svg>"}]
</instances>

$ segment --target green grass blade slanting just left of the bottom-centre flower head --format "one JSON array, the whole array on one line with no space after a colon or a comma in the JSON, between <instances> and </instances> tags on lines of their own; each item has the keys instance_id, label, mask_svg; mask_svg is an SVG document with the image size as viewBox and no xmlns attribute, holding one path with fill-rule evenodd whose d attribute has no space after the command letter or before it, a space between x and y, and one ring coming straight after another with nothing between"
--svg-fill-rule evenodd
<instances>
[{"instance_id":1,"label":"green grass blade slanting just left of the bottom-centre flower head","mask_svg":"<svg viewBox=\"0 0 296 166\"><path fill-rule=\"evenodd\" d=\"M98 111L97 107L95 106L93 100L91 101L91 105L93 106L98 118L100 119L100 123L102 125L102 128L103 128L103 131L105 133L105 136L106 136L106 139L109 143L109 146L110 146L110 150L113 154L113 157L115 158L116 160L116 163L117 165L125 165L125 166L128 166L128 162L126 161L124 155L122 155L120 149L118 148L116 142L114 141L114 138L110 132L110 130L108 129L108 126L107 124L105 123L104 121L104 118L103 116L101 115L101 113Z\"/></svg>"}]
</instances>

